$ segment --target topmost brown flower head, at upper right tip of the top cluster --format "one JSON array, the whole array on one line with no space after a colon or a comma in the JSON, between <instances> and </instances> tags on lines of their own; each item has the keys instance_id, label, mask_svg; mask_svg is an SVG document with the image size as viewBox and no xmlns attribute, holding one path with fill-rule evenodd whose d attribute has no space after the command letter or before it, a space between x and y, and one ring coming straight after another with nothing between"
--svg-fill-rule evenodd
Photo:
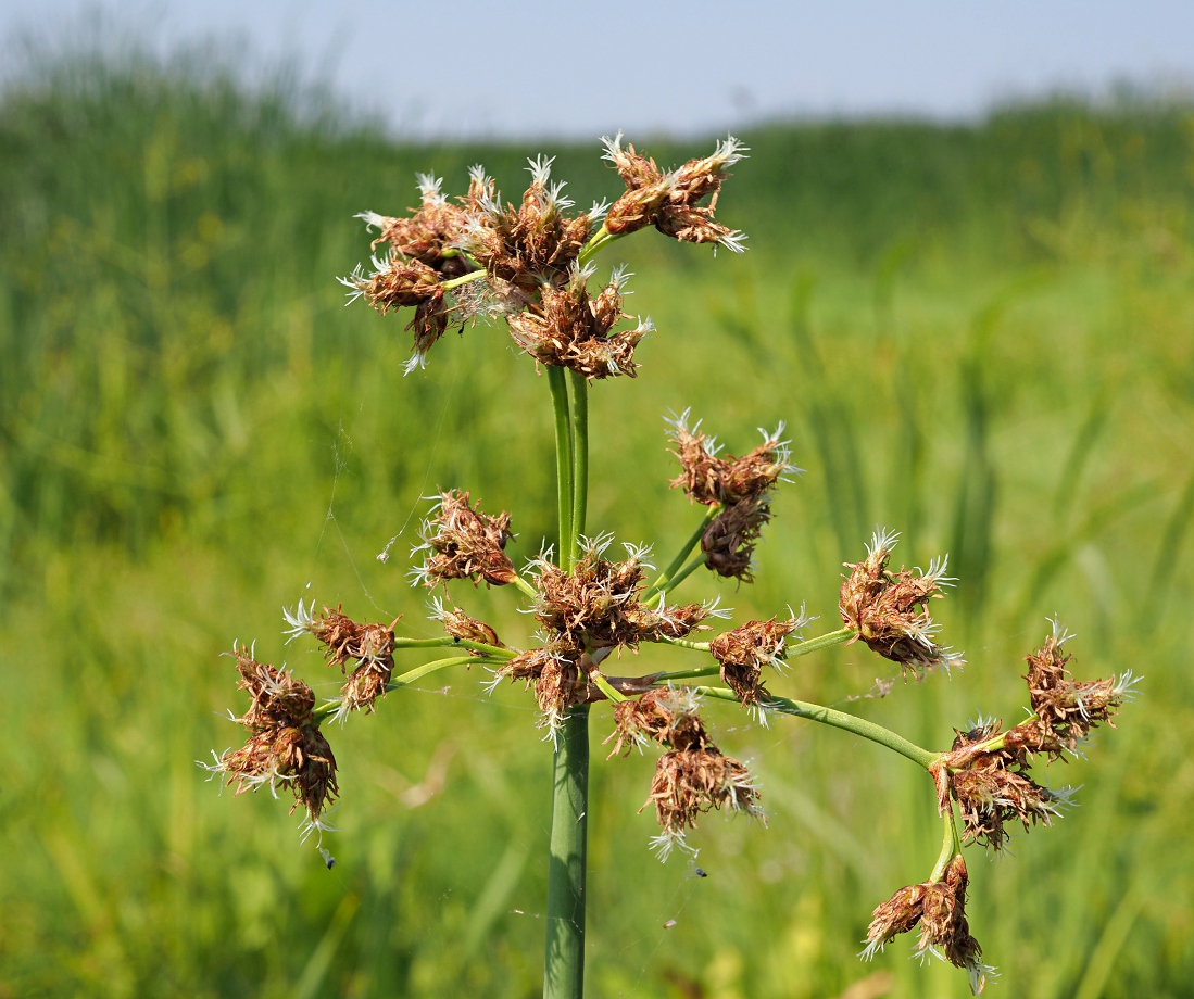
<instances>
[{"instance_id":1,"label":"topmost brown flower head, at upper right tip of the top cluster","mask_svg":"<svg viewBox=\"0 0 1194 999\"><path fill-rule=\"evenodd\" d=\"M720 243L734 253L745 247L745 235L713 220L726 169L744 159L746 147L730 136L712 156L689 160L679 169L664 173L656 161L639 155L633 146L622 148L622 134L607 136L605 156L626 184L626 193L605 215L605 230L614 235L654 226L660 233L684 242ZM708 198L707 204L701 204Z\"/></svg>"}]
</instances>

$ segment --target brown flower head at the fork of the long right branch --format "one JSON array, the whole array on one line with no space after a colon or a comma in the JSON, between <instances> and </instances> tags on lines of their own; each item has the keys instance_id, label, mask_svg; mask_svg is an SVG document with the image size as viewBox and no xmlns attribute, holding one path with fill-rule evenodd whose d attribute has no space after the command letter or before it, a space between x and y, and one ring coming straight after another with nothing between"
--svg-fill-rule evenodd
<instances>
[{"instance_id":1,"label":"brown flower head at the fork of the long right branch","mask_svg":"<svg viewBox=\"0 0 1194 999\"><path fill-rule=\"evenodd\" d=\"M959 732L937 770L938 781L948 781L958 802L962 839L992 850L1001 850L1008 840L1007 822L1020 820L1026 831L1036 822L1050 826L1073 794L1072 788L1054 791L1033 781L1022 744L1014 739L1009 747L997 740L999 727L997 721L979 719L967 732Z\"/></svg>"}]
</instances>

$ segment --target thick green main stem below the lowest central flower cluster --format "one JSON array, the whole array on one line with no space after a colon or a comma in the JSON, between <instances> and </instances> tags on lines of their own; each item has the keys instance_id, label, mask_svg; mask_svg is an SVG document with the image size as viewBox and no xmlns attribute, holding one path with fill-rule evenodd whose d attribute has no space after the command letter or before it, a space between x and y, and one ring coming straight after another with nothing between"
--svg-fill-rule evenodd
<instances>
[{"instance_id":1,"label":"thick green main stem below the lowest central flower cluster","mask_svg":"<svg viewBox=\"0 0 1194 999\"><path fill-rule=\"evenodd\" d=\"M585 979L589 705L568 709L555 745L543 999L580 999Z\"/></svg>"}]
</instances>

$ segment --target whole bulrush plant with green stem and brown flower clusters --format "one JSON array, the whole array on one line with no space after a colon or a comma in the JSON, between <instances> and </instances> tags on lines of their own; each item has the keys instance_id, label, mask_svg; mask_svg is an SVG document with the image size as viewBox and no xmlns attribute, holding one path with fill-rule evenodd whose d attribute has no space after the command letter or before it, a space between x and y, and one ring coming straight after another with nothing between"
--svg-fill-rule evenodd
<instances>
[{"instance_id":1,"label":"whole bulrush plant with green stem and brown flower clusters","mask_svg":"<svg viewBox=\"0 0 1194 999\"><path fill-rule=\"evenodd\" d=\"M462 491L435 498L414 548L414 585L431 593L439 639L396 634L398 622L359 623L339 606L316 611L300 602L287 611L291 640L321 643L328 664L345 674L340 696L316 705L290 673L260 664L250 649L232 656L251 705L234 721L248 741L216 758L209 769L238 794L269 785L289 790L303 812L303 833L327 830L327 806L337 794L336 757L321 727L373 714L387 693L432 673L484 666L492 690L523 684L538 705L538 724L553 748L553 806L546 905L546 997L579 997L585 935L585 857L590 711L608 704L602 728L610 757L658 752L644 808L653 807L659 834L651 846L661 861L696 853L691 841L704 813L744 813L764 824L762 789L747 766L718 745L702 708L708 701L737 702L764 724L793 716L844 729L907 758L931 777L942 843L923 881L879 905L861 956L874 957L896 936L918 930L916 952L966 970L974 993L995 974L971 935L965 906L970 880L962 847L998 851L1016 822L1048 826L1070 801L1069 789L1051 790L1030 767L1079 753L1091 729L1131 698L1131 674L1077 682L1064 653L1069 635L1054 625L1028 656L1029 715L1010 728L995 720L956 730L949 750L913 745L874 722L832 708L780 696L788 664L833 646L858 642L899 664L905 679L948 674L962 655L942 645L931 618L935 600L953 585L947 559L927 571L892 567L897 535L876 530L857 563L847 565L839 593L842 627L806 637L812 621L788 609L765 621L721 630L728 611L716 602L681 603L684 580L709 572L737 585L753 579L752 554L771 519L771 499L799 473L782 439L783 426L753 450L724 454L688 412L669 421L679 471L671 486L704 508L691 536L666 568L651 563L645 545L616 547L611 535L592 531L586 517L589 485L587 393L595 382L635 377L636 349L653 327L623 310L628 275L617 269L595 282L595 257L610 243L654 227L681 242L712 243L739 253L741 233L714 218L728 168L746 152L733 137L713 154L663 171L621 136L605 141L605 159L626 190L611 205L571 214L564 184L550 178L552 161L530 164L530 185L518 204L503 202L481 167L470 171L460 198L441 181L419 178L420 204L405 217L365 212L377 230L371 271L362 267L344 283L350 298L378 313L413 309L407 329L413 351L406 370L426 364L449 327L463 331L479 319L501 319L517 346L546 372L555 424L558 547L543 547L521 572L506 554L513 538L510 513L487 512ZM860 549L862 544L860 543ZM449 596L470 581L510 587L537 625L523 647L470 617ZM707 639L707 640L704 640ZM687 668L647 676L614 676L611 653L645 642L671 646L695 661ZM421 649L451 649L395 673L395 656ZM617 660L624 661L624 660ZM715 679L716 678L716 679ZM720 683L718 682L720 680ZM790 683L790 680L784 680ZM930 790L927 785L927 790ZM959 819L961 822L959 831Z\"/></svg>"}]
</instances>

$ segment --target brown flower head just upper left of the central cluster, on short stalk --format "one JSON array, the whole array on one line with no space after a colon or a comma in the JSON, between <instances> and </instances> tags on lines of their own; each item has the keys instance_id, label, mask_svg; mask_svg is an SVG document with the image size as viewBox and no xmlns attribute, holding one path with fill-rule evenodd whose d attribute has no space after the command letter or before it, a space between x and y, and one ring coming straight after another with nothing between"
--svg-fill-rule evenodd
<instances>
[{"instance_id":1,"label":"brown flower head just upper left of the central cluster, on short stalk","mask_svg":"<svg viewBox=\"0 0 1194 999\"><path fill-rule=\"evenodd\" d=\"M517 578L513 562L503 549L513 532L510 514L497 517L481 512L480 504L469 506L468 493L449 489L439 494L433 516L423 522L421 544L411 555L426 551L421 566L411 571L411 578L429 588L438 584L447 587L450 579L482 579L493 586L505 586Z\"/></svg>"}]
</instances>

